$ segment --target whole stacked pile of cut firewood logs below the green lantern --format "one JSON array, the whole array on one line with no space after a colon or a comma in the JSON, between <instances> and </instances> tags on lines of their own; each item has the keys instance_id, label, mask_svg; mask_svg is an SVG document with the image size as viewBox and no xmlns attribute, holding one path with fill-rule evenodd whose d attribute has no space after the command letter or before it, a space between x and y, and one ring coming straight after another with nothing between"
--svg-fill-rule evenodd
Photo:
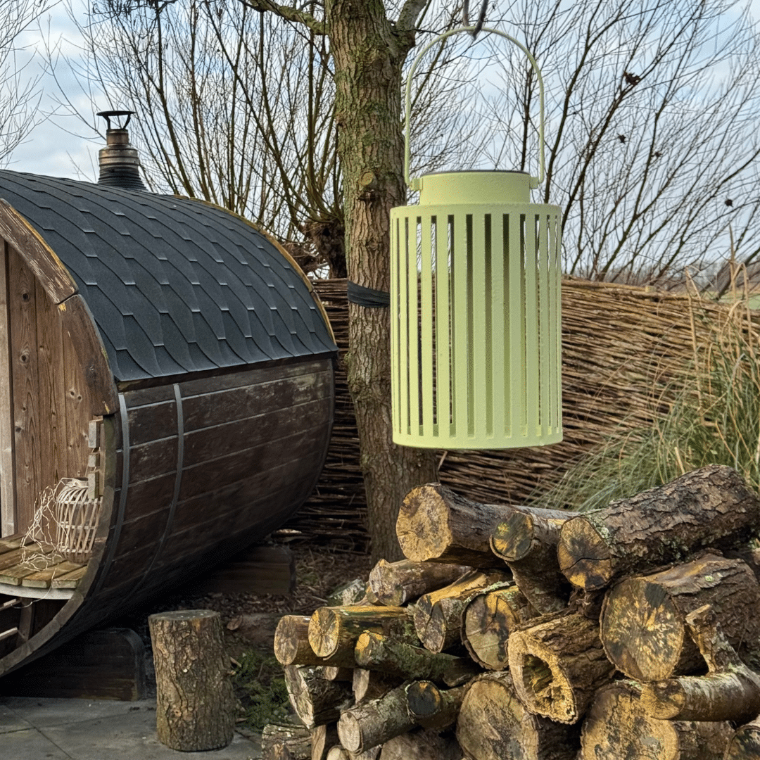
<instances>
[{"instance_id":1,"label":"whole stacked pile of cut firewood logs below the green lantern","mask_svg":"<svg viewBox=\"0 0 760 760\"><path fill-rule=\"evenodd\" d=\"M280 620L311 742L272 756L760 758L760 499L734 470L587 514L429 484L396 527L407 559L362 600Z\"/></svg>"}]
</instances>

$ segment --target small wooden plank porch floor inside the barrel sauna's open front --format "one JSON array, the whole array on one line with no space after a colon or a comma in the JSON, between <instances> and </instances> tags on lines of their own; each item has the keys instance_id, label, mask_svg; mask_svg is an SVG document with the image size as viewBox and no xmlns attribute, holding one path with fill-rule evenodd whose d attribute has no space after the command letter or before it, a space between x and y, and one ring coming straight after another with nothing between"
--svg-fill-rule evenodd
<instances>
[{"instance_id":1,"label":"small wooden plank porch floor inside the barrel sauna's open front","mask_svg":"<svg viewBox=\"0 0 760 760\"><path fill-rule=\"evenodd\" d=\"M86 571L87 565L55 555L52 546L24 546L20 535L0 539L0 594L67 599Z\"/></svg>"}]
</instances>

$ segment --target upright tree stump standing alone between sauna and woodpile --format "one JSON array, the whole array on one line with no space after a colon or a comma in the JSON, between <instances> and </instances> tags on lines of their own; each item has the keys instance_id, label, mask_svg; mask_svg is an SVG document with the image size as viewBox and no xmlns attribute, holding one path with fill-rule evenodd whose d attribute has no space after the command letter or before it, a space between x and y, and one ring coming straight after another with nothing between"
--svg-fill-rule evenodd
<instances>
[{"instance_id":1,"label":"upright tree stump standing alone between sauna and woodpile","mask_svg":"<svg viewBox=\"0 0 760 760\"><path fill-rule=\"evenodd\" d=\"M171 749L203 752L233 739L237 700L219 613L178 610L148 617L156 667L156 730Z\"/></svg>"}]
</instances>

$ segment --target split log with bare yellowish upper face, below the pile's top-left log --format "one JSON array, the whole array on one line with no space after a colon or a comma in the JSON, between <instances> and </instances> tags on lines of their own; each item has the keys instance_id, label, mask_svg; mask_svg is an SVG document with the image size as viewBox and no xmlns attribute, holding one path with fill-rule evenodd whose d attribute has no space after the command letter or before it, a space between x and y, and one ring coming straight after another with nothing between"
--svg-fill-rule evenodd
<instances>
[{"instance_id":1,"label":"split log with bare yellowish upper face, below the pile's top-left log","mask_svg":"<svg viewBox=\"0 0 760 760\"><path fill-rule=\"evenodd\" d=\"M424 647L442 652L461 642L461 617L470 599L483 589L509 580L508 572L465 573L454 583L424 594L414 609L414 628Z\"/></svg>"}]
</instances>

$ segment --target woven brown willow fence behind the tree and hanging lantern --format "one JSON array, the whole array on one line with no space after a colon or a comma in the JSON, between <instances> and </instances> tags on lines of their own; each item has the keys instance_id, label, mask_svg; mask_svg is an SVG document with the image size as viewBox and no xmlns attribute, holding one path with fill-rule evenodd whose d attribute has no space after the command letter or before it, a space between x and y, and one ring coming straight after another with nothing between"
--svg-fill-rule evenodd
<instances>
[{"instance_id":1,"label":"woven brown willow fence behind the tree and hanging lantern","mask_svg":"<svg viewBox=\"0 0 760 760\"><path fill-rule=\"evenodd\" d=\"M347 348L346 280L315 283L341 356ZM653 395L705 340L706 323L726 307L651 288L566 279L562 282L562 416L564 440L545 448L442 452L440 479L470 499L520 503L556 483L568 466L619 426L651 423ZM693 318L695 315L697 318ZM654 393L653 393L654 391ZM310 540L366 548L366 503L359 440L344 369L327 463L315 493L287 528Z\"/></svg>"}]
</instances>

